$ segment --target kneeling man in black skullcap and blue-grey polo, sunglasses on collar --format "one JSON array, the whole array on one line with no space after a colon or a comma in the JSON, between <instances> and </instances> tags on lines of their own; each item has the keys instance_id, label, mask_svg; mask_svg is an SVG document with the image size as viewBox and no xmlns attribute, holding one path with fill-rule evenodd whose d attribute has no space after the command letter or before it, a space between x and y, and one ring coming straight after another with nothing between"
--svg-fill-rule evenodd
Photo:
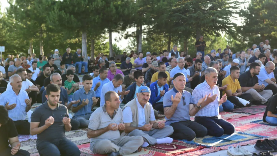
<instances>
[{"instance_id":1,"label":"kneeling man in black skullcap and blue-grey polo, sunglasses on collar","mask_svg":"<svg viewBox=\"0 0 277 156\"><path fill-rule=\"evenodd\" d=\"M190 116L194 116L200 109L204 98L199 99L196 105L190 103L191 94L185 91L186 77L183 73L176 73L173 77L174 88L168 91L163 97L163 107L165 113L165 125L173 127L174 132L170 136L173 139L193 140L195 137L204 137L207 129L191 121ZM173 98L174 97L174 98Z\"/></svg>"}]
</instances>

